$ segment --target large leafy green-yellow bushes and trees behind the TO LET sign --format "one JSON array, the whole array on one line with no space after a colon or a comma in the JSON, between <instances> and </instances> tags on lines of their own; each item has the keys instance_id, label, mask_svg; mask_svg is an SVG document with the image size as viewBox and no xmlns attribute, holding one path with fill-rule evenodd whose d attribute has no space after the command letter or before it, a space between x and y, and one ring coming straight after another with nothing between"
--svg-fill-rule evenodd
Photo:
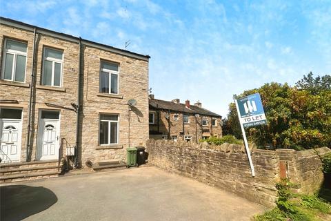
<instances>
[{"instance_id":1,"label":"large leafy green-yellow bushes and trees behind the TO LET sign","mask_svg":"<svg viewBox=\"0 0 331 221\"><path fill-rule=\"evenodd\" d=\"M259 147L316 148L331 146L331 76L304 76L292 87L270 83L244 91L235 98L260 93L268 124L247 130L250 140ZM224 134L241 138L236 106L223 122Z\"/></svg>"}]
</instances>

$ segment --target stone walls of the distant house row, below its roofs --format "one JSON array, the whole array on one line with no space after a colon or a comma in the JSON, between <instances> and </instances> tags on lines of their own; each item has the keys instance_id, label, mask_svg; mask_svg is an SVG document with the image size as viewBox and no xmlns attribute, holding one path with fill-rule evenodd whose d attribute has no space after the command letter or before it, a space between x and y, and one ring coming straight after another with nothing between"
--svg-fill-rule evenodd
<instances>
[{"instance_id":1,"label":"stone walls of the distant house row, below its roofs","mask_svg":"<svg viewBox=\"0 0 331 221\"><path fill-rule=\"evenodd\" d=\"M201 108L201 103L198 104ZM171 108L167 110L150 106L150 114L154 116L150 122L150 138L199 142L200 139L211 136L222 137L221 116L199 114L199 111L194 109L190 111L185 106L182 109L182 111L174 111ZM183 122L184 115L188 116L188 122ZM205 120L206 124L203 125L202 120ZM213 120L214 125L212 125Z\"/></svg>"}]
</instances>

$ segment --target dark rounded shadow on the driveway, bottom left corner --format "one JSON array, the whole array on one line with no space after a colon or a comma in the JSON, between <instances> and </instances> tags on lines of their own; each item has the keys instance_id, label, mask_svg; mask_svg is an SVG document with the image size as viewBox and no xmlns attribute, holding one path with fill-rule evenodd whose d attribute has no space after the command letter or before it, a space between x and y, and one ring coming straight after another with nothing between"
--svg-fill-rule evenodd
<instances>
[{"instance_id":1,"label":"dark rounded shadow on the driveway, bottom left corner","mask_svg":"<svg viewBox=\"0 0 331 221\"><path fill-rule=\"evenodd\" d=\"M42 186L0 186L0 198L1 221L23 220L57 202L57 195Z\"/></svg>"}]
</instances>

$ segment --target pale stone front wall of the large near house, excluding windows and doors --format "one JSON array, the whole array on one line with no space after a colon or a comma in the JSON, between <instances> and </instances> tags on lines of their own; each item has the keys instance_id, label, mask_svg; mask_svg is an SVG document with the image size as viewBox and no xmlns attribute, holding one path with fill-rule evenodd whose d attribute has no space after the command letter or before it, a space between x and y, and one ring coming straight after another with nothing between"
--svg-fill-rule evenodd
<instances>
[{"instance_id":1,"label":"pale stone front wall of the large near house, excluding windows and doors","mask_svg":"<svg viewBox=\"0 0 331 221\"><path fill-rule=\"evenodd\" d=\"M32 82L32 57L34 28L37 28L34 59L34 82ZM79 161L84 166L86 160L94 162L126 160L126 147L144 144L148 139L148 56L139 55L81 39L30 26L18 21L1 18L0 24L1 70L5 39L21 41L28 45L26 74L24 82L0 79L0 108L22 110L22 130L20 161L37 160L38 129L42 110L59 111L59 137L67 146L77 142L77 113L74 106L81 102L79 119ZM61 86L45 86L42 83L45 48L63 53ZM81 58L81 60L79 59ZM119 93L99 93L101 61L110 61L119 66ZM81 68L81 72L80 72ZM83 77L79 79L79 73ZM3 76L3 75L1 75ZM80 84L79 84L80 82ZM32 87L32 115L30 133L30 153L28 146L28 116L30 86ZM80 86L80 87L79 87ZM79 89L80 88L80 89ZM78 90L81 97L78 97ZM129 111L128 99L136 99L137 105ZM118 144L100 145L99 119L101 114L113 113L119 116ZM129 117L130 116L130 117ZM130 119L130 123L129 123ZM130 129L129 129L130 124ZM61 142L60 142L61 143ZM63 155L66 153L62 151Z\"/></svg>"}]
</instances>

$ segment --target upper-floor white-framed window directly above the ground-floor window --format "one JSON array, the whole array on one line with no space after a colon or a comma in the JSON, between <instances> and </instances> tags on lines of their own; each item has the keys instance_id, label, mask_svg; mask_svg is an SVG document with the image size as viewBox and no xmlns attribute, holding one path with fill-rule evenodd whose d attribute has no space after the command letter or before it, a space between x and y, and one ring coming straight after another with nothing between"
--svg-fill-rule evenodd
<instances>
[{"instance_id":1,"label":"upper-floor white-framed window directly above the ground-floor window","mask_svg":"<svg viewBox=\"0 0 331 221\"><path fill-rule=\"evenodd\" d=\"M99 92L119 94L119 64L101 61Z\"/></svg>"}]
</instances>

